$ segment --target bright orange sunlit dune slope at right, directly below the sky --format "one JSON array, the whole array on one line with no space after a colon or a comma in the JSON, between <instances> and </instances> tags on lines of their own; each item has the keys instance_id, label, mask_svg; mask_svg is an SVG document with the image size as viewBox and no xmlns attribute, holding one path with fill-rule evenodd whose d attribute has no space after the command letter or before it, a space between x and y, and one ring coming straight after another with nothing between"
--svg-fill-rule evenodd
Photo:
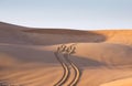
<instances>
[{"instance_id":1,"label":"bright orange sunlit dune slope at right, directly below the sky","mask_svg":"<svg viewBox=\"0 0 132 86\"><path fill-rule=\"evenodd\" d=\"M132 30L98 31L97 33L105 35L106 42L132 45Z\"/></svg>"}]
</instances>

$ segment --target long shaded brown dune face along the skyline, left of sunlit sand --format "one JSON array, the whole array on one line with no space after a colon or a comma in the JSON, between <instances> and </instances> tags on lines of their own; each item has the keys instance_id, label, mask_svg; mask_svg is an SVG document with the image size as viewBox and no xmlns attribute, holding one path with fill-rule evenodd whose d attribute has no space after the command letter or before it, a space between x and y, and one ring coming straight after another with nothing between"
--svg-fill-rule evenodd
<instances>
[{"instance_id":1,"label":"long shaded brown dune face along the skyline, left of sunlit sand","mask_svg":"<svg viewBox=\"0 0 132 86\"><path fill-rule=\"evenodd\" d=\"M0 23L1 43L52 45L70 42L103 42L105 40L103 35L94 32L30 29Z\"/></svg>"}]
</instances>

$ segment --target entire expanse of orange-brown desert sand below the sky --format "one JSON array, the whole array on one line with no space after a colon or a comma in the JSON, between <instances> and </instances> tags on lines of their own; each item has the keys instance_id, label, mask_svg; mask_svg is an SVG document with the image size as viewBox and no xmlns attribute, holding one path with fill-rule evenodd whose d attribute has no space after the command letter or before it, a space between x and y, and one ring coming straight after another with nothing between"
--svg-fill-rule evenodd
<instances>
[{"instance_id":1,"label":"entire expanse of orange-brown desert sand below the sky","mask_svg":"<svg viewBox=\"0 0 132 86\"><path fill-rule=\"evenodd\" d=\"M0 22L0 86L132 86L131 36Z\"/></svg>"}]
</instances>

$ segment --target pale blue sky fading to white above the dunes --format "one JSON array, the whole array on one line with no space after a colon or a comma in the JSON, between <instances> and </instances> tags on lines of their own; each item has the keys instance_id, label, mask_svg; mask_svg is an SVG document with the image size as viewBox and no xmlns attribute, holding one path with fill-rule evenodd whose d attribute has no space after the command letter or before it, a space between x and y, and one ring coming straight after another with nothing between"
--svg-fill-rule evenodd
<instances>
[{"instance_id":1,"label":"pale blue sky fading to white above the dunes","mask_svg":"<svg viewBox=\"0 0 132 86\"><path fill-rule=\"evenodd\" d=\"M0 21L33 28L132 29L132 0L0 0Z\"/></svg>"}]
</instances>

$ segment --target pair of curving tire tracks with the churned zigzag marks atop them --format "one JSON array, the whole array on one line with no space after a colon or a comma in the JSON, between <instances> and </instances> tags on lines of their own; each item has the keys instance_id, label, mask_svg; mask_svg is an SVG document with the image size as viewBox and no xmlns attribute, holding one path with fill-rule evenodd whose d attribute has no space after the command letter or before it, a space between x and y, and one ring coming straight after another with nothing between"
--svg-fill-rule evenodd
<instances>
[{"instance_id":1,"label":"pair of curving tire tracks with the churned zigzag marks atop them","mask_svg":"<svg viewBox=\"0 0 132 86\"><path fill-rule=\"evenodd\" d=\"M61 63L61 65L63 66L63 69L64 69L64 75L63 77L55 84L55 86L64 86L64 84L66 82L68 82L68 78L72 78L70 75L70 68L69 66L73 68L74 71L74 78L70 80L70 83L68 83L67 86L76 86L77 83L79 82L79 78L81 76L81 72L79 71L79 68L69 60L69 56L70 54L75 53L75 47L73 49L73 45L70 45L69 47L67 46L64 46L64 49L62 47L62 51L61 53L65 52L63 54L63 61L59 56L58 56L58 53L54 53L57 61ZM66 50L65 50L66 49ZM67 65L69 64L69 65Z\"/></svg>"}]
</instances>

